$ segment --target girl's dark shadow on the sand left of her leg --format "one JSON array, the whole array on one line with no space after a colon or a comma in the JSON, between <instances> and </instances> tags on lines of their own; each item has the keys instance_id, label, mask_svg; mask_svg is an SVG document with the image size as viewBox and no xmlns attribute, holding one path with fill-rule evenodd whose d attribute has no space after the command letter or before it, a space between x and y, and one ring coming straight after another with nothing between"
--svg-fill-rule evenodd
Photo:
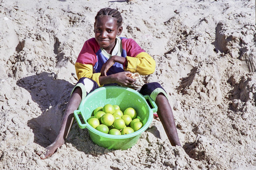
<instances>
[{"instance_id":1,"label":"girl's dark shadow on the sand left of her leg","mask_svg":"<svg viewBox=\"0 0 256 170\"><path fill-rule=\"evenodd\" d=\"M41 109L28 103L33 112L38 115L30 119L27 125L34 133L34 142L47 147L56 138L68 102L73 84L56 79L54 73L42 72L39 75L25 77L17 81L17 85L30 92L31 99Z\"/></svg>"}]
</instances>

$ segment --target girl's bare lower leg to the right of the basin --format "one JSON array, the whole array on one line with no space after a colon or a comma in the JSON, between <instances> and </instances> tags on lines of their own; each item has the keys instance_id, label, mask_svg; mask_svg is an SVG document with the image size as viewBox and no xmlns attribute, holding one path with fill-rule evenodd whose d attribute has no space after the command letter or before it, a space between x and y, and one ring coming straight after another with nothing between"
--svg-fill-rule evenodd
<instances>
[{"instance_id":1,"label":"girl's bare lower leg to the right of the basin","mask_svg":"<svg viewBox=\"0 0 256 170\"><path fill-rule=\"evenodd\" d=\"M157 115L163 124L165 133L171 142L172 146L181 146L178 137L174 115L172 114L171 106L167 98L163 94L158 94L156 96L156 105L158 106Z\"/></svg>"}]
</instances>

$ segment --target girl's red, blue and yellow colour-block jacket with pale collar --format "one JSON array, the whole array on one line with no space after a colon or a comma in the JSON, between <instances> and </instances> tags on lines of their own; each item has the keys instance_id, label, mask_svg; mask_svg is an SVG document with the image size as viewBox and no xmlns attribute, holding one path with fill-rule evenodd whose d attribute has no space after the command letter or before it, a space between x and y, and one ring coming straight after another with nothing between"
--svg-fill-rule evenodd
<instances>
[{"instance_id":1,"label":"girl's red, blue and yellow colour-block jacket with pale collar","mask_svg":"<svg viewBox=\"0 0 256 170\"><path fill-rule=\"evenodd\" d=\"M156 63L154 59L145 53L143 49L131 38L117 37L117 43L114 47L117 55L125 57L127 67L120 63L115 63L107 72L107 75L123 71L132 73L138 72L142 75L152 74ZM101 48L95 38L87 40L76 60L75 68L78 79L88 77L98 83L102 65L111 57L103 48Z\"/></svg>"}]
</instances>

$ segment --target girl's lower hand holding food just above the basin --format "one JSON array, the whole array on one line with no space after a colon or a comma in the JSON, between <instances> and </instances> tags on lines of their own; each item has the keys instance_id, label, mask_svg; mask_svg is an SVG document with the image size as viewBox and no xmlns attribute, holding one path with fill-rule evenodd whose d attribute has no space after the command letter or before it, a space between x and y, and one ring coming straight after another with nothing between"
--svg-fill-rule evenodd
<instances>
[{"instance_id":1,"label":"girl's lower hand holding food just above the basin","mask_svg":"<svg viewBox=\"0 0 256 170\"><path fill-rule=\"evenodd\" d=\"M135 79L132 79L130 77L127 76L127 74L132 74L129 71L125 71L125 72L119 72L116 74L112 74L111 78L113 80L114 83L117 83L121 86L124 87L128 87L130 85L133 85L135 83Z\"/></svg>"}]
</instances>

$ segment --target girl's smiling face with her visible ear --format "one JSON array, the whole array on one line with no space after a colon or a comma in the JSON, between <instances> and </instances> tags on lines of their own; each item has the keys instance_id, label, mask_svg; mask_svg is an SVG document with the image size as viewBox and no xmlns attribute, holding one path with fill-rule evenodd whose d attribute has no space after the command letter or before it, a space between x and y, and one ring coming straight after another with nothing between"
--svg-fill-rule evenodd
<instances>
[{"instance_id":1,"label":"girl's smiling face with her visible ear","mask_svg":"<svg viewBox=\"0 0 256 170\"><path fill-rule=\"evenodd\" d=\"M115 46L115 38L121 34L123 27L117 26L117 21L111 17L98 17L94 23L95 39L107 53Z\"/></svg>"}]
</instances>

